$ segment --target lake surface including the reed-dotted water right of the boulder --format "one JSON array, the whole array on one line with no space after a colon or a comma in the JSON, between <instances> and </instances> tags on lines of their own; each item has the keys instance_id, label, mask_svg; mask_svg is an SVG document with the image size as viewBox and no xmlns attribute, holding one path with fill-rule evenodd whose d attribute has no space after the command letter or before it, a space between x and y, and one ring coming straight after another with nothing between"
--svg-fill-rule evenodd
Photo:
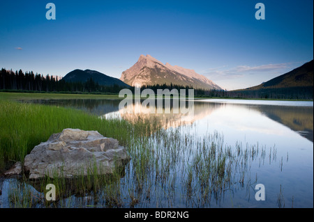
<instances>
[{"instance_id":1,"label":"lake surface including the reed-dotted water right of the boulder","mask_svg":"<svg viewBox=\"0 0 314 222\"><path fill-rule=\"evenodd\" d=\"M118 109L120 101L114 100L32 102L82 109L102 118L160 122L164 134L130 144L133 159L126 168L126 183L121 183L121 194L131 194L130 202L139 196L142 207L156 207L156 203L159 207L274 207L278 193L280 197L284 194L288 207L292 201L294 207L313 207L313 103L195 101L193 116L189 116L176 113L173 107L170 113L124 113ZM130 109L137 108L130 104ZM214 147L209 136L214 131L222 133L227 145L219 155L214 154L220 143L213 143L218 144ZM238 168L242 166L248 167ZM245 177L241 177L243 173ZM138 175L143 178L134 180ZM255 201L255 182L266 187L266 201ZM155 199L147 199L151 191L156 193ZM184 195L177 196L181 191ZM107 196L100 195L100 200L107 203ZM176 200L168 198L175 196Z\"/></svg>"}]
</instances>

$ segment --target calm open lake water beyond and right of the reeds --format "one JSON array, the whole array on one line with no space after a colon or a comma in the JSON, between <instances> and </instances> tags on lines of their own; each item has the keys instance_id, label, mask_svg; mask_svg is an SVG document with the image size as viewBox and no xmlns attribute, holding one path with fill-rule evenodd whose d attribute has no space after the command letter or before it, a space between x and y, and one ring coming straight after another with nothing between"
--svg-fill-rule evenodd
<instances>
[{"instance_id":1,"label":"calm open lake water beyond and right of the reeds","mask_svg":"<svg viewBox=\"0 0 314 222\"><path fill-rule=\"evenodd\" d=\"M250 175L264 184L266 200L255 200L255 184L234 189L219 202L204 207L313 207L313 102L267 100L195 100L193 116L123 113L119 100L31 100L66 106L101 118L134 122L155 119L164 129L206 138L218 132L231 148L257 145L267 151L261 161L252 161ZM272 156L271 156L272 154ZM237 173L237 172L234 172ZM6 185L3 183L3 187ZM178 187L180 185L178 184ZM4 200L2 200L4 201ZM156 207L156 204L146 207ZM165 206L167 207L167 206ZM173 207L193 207L177 202ZM282 207L282 205L281 205Z\"/></svg>"}]
</instances>

